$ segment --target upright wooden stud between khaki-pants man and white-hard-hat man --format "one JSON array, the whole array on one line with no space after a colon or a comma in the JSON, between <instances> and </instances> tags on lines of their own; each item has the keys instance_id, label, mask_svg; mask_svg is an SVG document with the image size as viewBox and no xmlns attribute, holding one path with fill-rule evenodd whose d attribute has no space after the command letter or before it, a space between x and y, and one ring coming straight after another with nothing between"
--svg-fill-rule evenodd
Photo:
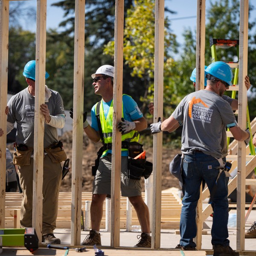
<instances>
[{"instance_id":1,"label":"upright wooden stud between khaki-pants man and white-hard-hat man","mask_svg":"<svg viewBox=\"0 0 256 256\"><path fill-rule=\"evenodd\" d=\"M76 0L75 5L71 245L81 240L85 0Z\"/></svg>"}]
</instances>

